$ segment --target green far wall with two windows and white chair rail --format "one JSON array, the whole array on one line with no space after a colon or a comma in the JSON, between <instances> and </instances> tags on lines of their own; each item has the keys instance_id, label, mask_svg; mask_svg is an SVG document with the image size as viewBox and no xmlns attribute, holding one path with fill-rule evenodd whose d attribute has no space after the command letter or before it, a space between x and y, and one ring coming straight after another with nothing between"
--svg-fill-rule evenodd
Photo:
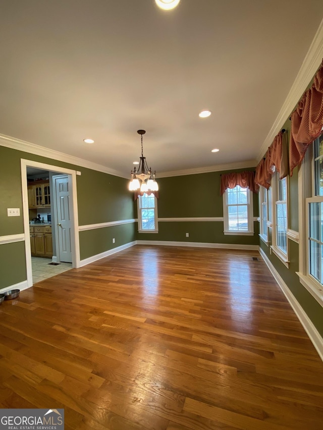
<instances>
[{"instance_id":1,"label":"green far wall with two windows and white chair rail","mask_svg":"<svg viewBox=\"0 0 323 430\"><path fill-rule=\"evenodd\" d=\"M159 178L158 218L223 217L223 197L220 195L221 174L243 170L254 169ZM258 216L258 206L258 195L253 194L254 217ZM225 235L223 229L223 221L159 221L158 233L137 232L137 239L259 244L259 222L254 222L252 236ZM189 233L189 237L186 237L185 233Z\"/></svg>"}]
</instances>

